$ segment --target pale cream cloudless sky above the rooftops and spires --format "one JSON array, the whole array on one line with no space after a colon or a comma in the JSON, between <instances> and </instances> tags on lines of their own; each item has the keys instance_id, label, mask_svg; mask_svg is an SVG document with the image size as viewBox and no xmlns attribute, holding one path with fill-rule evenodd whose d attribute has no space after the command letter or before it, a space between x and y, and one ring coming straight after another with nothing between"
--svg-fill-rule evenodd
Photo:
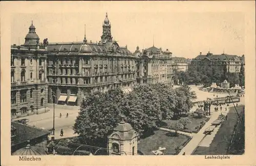
<instances>
[{"instance_id":1,"label":"pale cream cloudless sky above the rooftops and spires","mask_svg":"<svg viewBox=\"0 0 256 166\"><path fill-rule=\"evenodd\" d=\"M31 20L40 42L45 38L49 42L82 41L84 24L87 40L96 42L100 40L102 22L108 12L113 38L133 52L137 45L140 49L149 48L154 41L156 47L173 52L173 57L195 58L199 52L208 51L244 54L242 12L204 11L200 6L196 6L199 10L189 10L183 3L133 4L126 3L124 8L120 2L81 3L76 4L77 11L59 5L57 10L42 10L42 6L34 12L16 12L11 19L11 44L24 44Z\"/></svg>"}]
</instances>

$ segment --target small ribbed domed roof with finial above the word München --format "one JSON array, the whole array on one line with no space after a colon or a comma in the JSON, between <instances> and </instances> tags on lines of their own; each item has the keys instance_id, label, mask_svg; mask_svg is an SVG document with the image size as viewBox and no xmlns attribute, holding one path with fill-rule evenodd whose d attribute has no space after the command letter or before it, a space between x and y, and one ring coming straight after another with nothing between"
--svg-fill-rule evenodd
<instances>
[{"instance_id":1,"label":"small ribbed domed roof with finial above the word M\u00fcnchen","mask_svg":"<svg viewBox=\"0 0 256 166\"><path fill-rule=\"evenodd\" d=\"M18 156L31 156L31 155L47 155L47 152L43 148L37 148L28 144L26 147L16 150L12 155Z\"/></svg>"}]
</instances>

